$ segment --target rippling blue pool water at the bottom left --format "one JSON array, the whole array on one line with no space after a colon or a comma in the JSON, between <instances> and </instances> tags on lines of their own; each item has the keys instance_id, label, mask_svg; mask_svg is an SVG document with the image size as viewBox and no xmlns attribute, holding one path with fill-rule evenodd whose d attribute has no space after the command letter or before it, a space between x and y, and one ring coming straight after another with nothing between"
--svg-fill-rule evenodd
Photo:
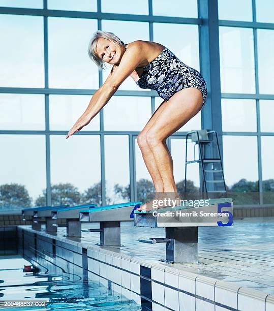
<instances>
[{"instance_id":1,"label":"rippling blue pool water at the bottom left","mask_svg":"<svg viewBox=\"0 0 274 311\"><path fill-rule=\"evenodd\" d=\"M31 263L19 256L2 256L0 264L0 300L47 300L46 307L13 307L14 311L148 310L93 279L83 281L75 274L51 274L48 267L36 273L23 272L23 266Z\"/></svg>"}]
</instances>

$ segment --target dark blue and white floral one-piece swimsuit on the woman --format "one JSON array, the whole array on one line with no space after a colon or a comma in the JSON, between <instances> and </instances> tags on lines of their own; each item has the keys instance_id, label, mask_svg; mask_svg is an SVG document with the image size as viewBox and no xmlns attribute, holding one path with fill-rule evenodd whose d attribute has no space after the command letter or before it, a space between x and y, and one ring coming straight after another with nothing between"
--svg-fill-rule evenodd
<instances>
[{"instance_id":1,"label":"dark blue and white floral one-piece swimsuit on the woman","mask_svg":"<svg viewBox=\"0 0 274 311\"><path fill-rule=\"evenodd\" d=\"M201 91L205 105L207 89L202 75L182 63L168 48L144 67L136 83L141 88L156 90L165 101L181 89L195 87Z\"/></svg>"}]
</instances>

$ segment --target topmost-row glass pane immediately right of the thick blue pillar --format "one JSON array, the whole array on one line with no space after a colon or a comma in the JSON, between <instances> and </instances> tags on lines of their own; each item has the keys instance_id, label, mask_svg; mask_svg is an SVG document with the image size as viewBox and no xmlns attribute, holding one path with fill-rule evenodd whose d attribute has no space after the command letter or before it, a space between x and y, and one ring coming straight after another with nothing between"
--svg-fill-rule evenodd
<instances>
[{"instance_id":1,"label":"topmost-row glass pane immediately right of the thick blue pillar","mask_svg":"<svg viewBox=\"0 0 274 311\"><path fill-rule=\"evenodd\" d=\"M252 0L218 0L218 12L219 19L252 21Z\"/></svg>"}]
</instances>

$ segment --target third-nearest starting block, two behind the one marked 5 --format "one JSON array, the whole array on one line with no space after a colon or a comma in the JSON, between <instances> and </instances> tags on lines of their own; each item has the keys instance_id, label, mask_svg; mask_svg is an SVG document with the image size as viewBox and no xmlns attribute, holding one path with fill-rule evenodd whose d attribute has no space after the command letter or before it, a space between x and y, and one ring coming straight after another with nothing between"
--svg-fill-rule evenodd
<instances>
[{"instance_id":1,"label":"third-nearest starting block, two behind the one marked 5","mask_svg":"<svg viewBox=\"0 0 274 311\"><path fill-rule=\"evenodd\" d=\"M79 221L79 212L83 208L96 208L98 204L90 203L85 205L77 205L66 208L58 208L56 210L51 210L51 221L53 227L55 227L55 232L57 232L57 220L65 219L67 227L67 237L81 237L81 222Z\"/></svg>"}]
</instances>

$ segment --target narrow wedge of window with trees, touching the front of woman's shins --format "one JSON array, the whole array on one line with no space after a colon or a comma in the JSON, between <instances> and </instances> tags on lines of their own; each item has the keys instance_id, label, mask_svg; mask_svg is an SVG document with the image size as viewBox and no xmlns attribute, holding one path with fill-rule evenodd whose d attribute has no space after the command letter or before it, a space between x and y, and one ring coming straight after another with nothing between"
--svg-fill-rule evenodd
<instances>
[{"instance_id":1,"label":"narrow wedge of window with trees, touching the front of woman's shins","mask_svg":"<svg viewBox=\"0 0 274 311\"><path fill-rule=\"evenodd\" d=\"M136 191L137 200L145 203L147 197L155 192L154 184L145 166L142 152L135 138L135 172L136 172Z\"/></svg>"}]
</instances>

